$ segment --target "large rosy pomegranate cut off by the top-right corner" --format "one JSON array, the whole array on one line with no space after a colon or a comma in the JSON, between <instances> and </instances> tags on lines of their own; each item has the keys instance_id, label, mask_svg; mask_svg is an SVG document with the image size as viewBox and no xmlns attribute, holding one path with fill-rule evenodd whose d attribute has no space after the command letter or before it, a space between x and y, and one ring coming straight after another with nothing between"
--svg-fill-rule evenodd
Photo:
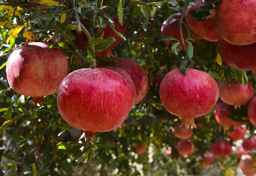
<instances>
[{"instance_id":1,"label":"large rosy pomegranate cut off by the top-right corner","mask_svg":"<svg viewBox=\"0 0 256 176\"><path fill-rule=\"evenodd\" d=\"M220 37L233 45L256 42L255 9L255 0L221 0L215 14Z\"/></svg>"}]
</instances>

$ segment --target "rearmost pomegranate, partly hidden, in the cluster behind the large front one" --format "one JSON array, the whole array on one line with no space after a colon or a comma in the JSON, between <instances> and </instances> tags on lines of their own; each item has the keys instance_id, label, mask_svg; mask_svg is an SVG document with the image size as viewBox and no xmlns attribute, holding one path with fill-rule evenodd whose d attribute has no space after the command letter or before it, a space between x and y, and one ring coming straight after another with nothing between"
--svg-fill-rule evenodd
<instances>
[{"instance_id":1,"label":"rearmost pomegranate, partly hidden, in the cluster behind the large front one","mask_svg":"<svg viewBox=\"0 0 256 176\"><path fill-rule=\"evenodd\" d=\"M148 76L145 70L128 58L118 57L111 60L117 61L113 67L121 68L131 76L136 88L135 104L139 103L148 92Z\"/></svg>"}]
</instances>

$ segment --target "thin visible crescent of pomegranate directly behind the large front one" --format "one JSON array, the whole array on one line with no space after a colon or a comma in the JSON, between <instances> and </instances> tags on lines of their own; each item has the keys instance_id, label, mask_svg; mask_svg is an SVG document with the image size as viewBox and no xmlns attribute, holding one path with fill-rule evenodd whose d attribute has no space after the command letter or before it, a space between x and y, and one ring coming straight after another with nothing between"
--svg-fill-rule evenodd
<instances>
[{"instance_id":1,"label":"thin visible crescent of pomegranate directly behind the large front one","mask_svg":"<svg viewBox=\"0 0 256 176\"><path fill-rule=\"evenodd\" d=\"M132 90L132 107L133 107L133 105L135 104L135 98L136 98L136 88L132 81L131 76L128 73L126 73L124 70L122 70L121 68L118 68L118 67L104 67L104 68L121 74L121 76L123 76L124 79L126 79L126 81L129 83L131 90Z\"/></svg>"}]
</instances>

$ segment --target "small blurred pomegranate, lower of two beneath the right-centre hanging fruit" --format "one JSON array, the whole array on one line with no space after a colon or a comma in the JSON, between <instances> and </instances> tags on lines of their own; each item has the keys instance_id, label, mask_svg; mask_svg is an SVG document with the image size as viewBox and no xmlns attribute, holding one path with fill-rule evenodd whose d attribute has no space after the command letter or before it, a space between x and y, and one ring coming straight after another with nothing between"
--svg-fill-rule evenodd
<instances>
[{"instance_id":1,"label":"small blurred pomegranate, lower of two beneath the right-centre hanging fruit","mask_svg":"<svg viewBox=\"0 0 256 176\"><path fill-rule=\"evenodd\" d=\"M181 156L190 155L194 152L195 145L193 144L193 142L191 140L185 139L183 141L178 142L177 150L179 151L179 154Z\"/></svg>"}]
</instances>

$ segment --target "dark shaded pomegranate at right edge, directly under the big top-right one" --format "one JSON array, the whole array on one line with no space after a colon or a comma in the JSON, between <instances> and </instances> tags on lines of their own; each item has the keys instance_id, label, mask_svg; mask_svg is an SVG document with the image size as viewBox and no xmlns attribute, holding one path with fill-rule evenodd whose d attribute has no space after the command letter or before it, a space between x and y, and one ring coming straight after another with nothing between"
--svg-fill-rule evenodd
<instances>
[{"instance_id":1,"label":"dark shaded pomegranate at right edge, directly under the big top-right one","mask_svg":"<svg viewBox=\"0 0 256 176\"><path fill-rule=\"evenodd\" d=\"M255 51L256 43L238 46L220 41L220 55L230 67L237 70L256 70Z\"/></svg>"}]
</instances>

